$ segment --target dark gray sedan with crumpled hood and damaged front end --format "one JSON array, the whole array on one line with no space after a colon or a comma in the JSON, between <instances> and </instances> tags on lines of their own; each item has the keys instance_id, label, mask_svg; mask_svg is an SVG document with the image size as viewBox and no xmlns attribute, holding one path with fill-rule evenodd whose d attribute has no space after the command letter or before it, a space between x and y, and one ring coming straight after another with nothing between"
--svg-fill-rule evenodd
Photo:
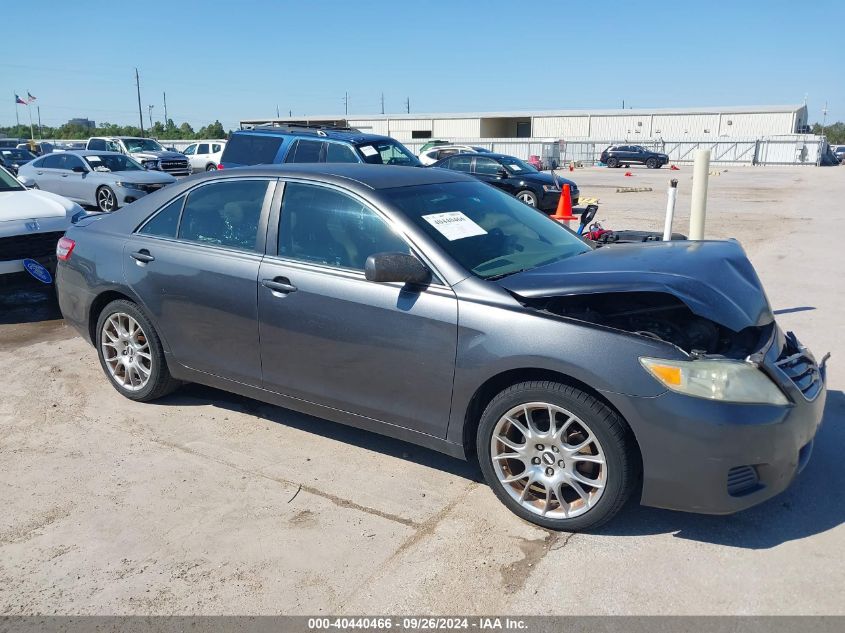
<instances>
[{"instance_id":1,"label":"dark gray sedan with crumpled hood and damaged front end","mask_svg":"<svg viewBox=\"0 0 845 633\"><path fill-rule=\"evenodd\" d=\"M477 459L560 530L632 495L735 512L810 458L824 362L737 242L593 250L441 169L213 173L58 243L62 313L129 399L197 382Z\"/></svg>"}]
</instances>

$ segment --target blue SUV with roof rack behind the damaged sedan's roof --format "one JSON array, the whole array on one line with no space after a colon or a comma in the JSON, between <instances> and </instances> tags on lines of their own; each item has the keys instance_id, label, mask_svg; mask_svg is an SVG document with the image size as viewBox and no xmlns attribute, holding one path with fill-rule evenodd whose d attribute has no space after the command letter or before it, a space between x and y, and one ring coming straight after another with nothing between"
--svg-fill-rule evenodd
<instances>
[{"instance_id":1,"label":"blue SUV with roof rack behind the damaged sedan's roof","mask_svg":"<svg viewBox=\"0 0 845 633\"><path fill-rule=\"evenodd\" d=\"M419 159L389 136L351 128L255 127L232 133L220 169L279 163L370 163L420 167Z\"/></svg>"}]
</instances>

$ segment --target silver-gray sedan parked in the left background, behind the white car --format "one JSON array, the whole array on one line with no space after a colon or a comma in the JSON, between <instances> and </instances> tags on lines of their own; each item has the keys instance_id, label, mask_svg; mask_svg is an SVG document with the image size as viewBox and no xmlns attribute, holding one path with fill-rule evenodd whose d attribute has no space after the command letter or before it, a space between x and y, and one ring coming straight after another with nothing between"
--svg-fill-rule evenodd
<instances>
[{"instance_id":1,"label":"silver-gray sedan parked in the left background, behind the white car","mask_svg":"<svg viewBox=\"0 0 845 633\"><path fill-rule=\"evenodd\" d=\"M22 165L18 179L107 213L176 182L123 154L86 150L42 156Z\"/></svg>"}]
</instances>

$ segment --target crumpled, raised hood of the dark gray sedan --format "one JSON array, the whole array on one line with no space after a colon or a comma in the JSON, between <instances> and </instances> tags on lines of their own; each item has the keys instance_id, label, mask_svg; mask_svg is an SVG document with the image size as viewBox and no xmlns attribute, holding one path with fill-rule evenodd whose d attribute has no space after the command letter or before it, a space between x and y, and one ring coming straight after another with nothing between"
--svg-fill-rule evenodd
<instances>
[{"instance_id":1,"label":"crumpled, raised hood of the dark gray sedan","mask_svg":"<svg viewBox=\"0 0 845 633\"><path fill-rule=\"evenodd\" d=\"M525 298L664 292L735 332L774 319L760 279L735 241L615 244L495 283Z\"/></svg>"}]
</instances>

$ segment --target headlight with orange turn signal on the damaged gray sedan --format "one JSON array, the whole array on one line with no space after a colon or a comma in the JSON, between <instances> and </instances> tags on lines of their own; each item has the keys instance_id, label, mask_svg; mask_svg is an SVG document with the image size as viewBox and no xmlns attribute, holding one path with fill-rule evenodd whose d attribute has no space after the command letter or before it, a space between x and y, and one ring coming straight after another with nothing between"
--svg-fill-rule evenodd
<instances>
[{"instance_id":1,"label":"headlight with orange turn signal on the damaged gray sedan","mask_svg":"<svg viewBox=\"0 0 845 633\"><path fill-rule=\"evenodd\" d=\"M640 358L640 363L665 387L688 396L724 402L789 403L778 386L751 363L661 358Z\"/></svg>"}]
</instances>

